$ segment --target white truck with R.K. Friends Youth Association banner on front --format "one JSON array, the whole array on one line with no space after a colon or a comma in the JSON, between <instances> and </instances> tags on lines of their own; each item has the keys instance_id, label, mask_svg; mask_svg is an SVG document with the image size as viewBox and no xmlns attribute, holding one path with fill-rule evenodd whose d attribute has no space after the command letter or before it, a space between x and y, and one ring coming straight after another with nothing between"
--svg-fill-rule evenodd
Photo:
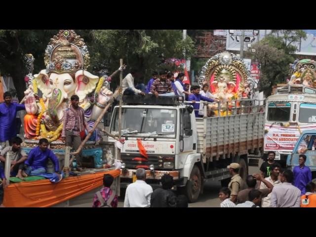
<instances>
[{"instance_id":1,"label":"white truck with R.K. Friends Youth Association banner on front","mask_svg":"<svg viewBox=\"0 0 316 237\"><path fill-rule=\"evenodd\" d=\"M267 98L266 111L263 158L274 151L285 167L302 132L316 129L316 89L303 84L277 88Z\"/></svg>"}]
</instances>

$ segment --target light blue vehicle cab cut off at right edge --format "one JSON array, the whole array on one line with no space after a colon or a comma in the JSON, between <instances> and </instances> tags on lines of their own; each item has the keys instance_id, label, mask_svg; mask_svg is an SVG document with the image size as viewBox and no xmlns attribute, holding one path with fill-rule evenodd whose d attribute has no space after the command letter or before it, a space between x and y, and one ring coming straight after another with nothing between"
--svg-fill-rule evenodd
<instances>
[{"instance_id":1,"label":"light blue vehicle cab cut off at right edge","mask_svg":"<svg viewBox=\"0 0 316 237\"><path fill-rule=\"evenodd\" d=\"M299 137L293 152L288 155L286 165L293 169L299 165L299 156L304 154L306 156L305 165L312 171L312 178L316 178L316 130L306 130Z\"/></svg>"}]
</instances>

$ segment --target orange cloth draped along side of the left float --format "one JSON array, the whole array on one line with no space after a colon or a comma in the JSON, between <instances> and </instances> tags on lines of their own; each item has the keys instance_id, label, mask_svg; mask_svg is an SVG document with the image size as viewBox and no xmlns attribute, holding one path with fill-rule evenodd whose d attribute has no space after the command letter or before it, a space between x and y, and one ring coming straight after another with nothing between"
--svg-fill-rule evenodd
<instances>
[{"instance_id":1,"label":"orange cloth draped along side of the left float","mask_svg":"<svg viewBox=\"0 0 316 237\"><path fill-rule=\"evenodd\" d=\"M48 207L89 192L103 185L103 175L118 177L120 170L68 177L57 184L48 179L20 182L4 190L3 205L6 207Z\"/></svg>"}]
</instances>

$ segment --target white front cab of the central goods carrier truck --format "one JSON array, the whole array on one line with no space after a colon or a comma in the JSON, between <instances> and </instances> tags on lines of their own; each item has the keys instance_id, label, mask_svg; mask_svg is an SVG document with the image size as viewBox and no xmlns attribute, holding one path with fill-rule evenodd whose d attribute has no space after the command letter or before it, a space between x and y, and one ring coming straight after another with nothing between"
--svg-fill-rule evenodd
<instances>
[{"instance_id":1,"label":"white front cab of the central goods carrier truck","mask_svg":"<svg viewBox=\"0 0 316 237\"><path fill-rule=\"evenodd\" d=\"M121 138L124 140L120 157L123 163L121 187L133 182L137 168L146 169L146 182L153 188L160 186L164 174L173 176L175 189L184 187L190 179L197 154L197 128L193 107L180 103L175 97L155 99L124 96L121 108ZM110 133L118 135L119 107L115 107ZM109 138L109 142L115 142ZM141 146L148 158L141 153ZM201 164L199 164L201 167ZM189 187L192 198L198 197L201 178L196 177Z\"/></svg>"}]
</instances>

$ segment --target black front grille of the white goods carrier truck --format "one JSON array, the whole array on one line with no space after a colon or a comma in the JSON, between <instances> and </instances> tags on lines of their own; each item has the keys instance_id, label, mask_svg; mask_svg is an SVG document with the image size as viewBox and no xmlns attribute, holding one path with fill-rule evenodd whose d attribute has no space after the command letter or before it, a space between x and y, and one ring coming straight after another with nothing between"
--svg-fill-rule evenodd
<instances>
[{"instance_id":1,"label":"black front grille of the white goods carrier truck","mask_svg":"<svg viewBox=\"0 0 316 237\"><path fill-rule=\"evenodd\" d=\"M148 161L132 160L133 158L136 158L136 157L141 158L142 156L139 154L130 154L129 156L126 154L121 154L120 157L122 161L126 164L126 168L135 169L136 166L138 165L147 165L149 167L151 164L153 164L155 169L164 169L162 156L149 155ZM168 156L168 157L172 157L172 156Z\"/></svg>"}]
</instances>

